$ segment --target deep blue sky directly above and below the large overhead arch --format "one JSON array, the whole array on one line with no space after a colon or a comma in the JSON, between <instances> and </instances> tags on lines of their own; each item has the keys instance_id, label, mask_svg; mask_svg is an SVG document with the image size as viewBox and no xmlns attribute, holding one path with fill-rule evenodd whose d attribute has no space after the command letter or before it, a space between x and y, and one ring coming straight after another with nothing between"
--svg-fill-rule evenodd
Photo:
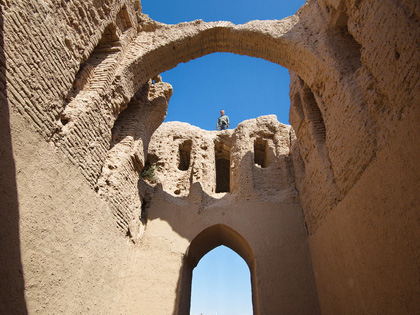
<instances>
[{"instance_id":1,"label":"deep blue sky directly above and below the large overhead arch","mask_svg":"<svg viewBox=\"0 0 420 315\"><path fill-rule=\"evenodd\" d=\"M143 13L152 19L176 24L202 19L243 24L251 20L282 19L293 15L305 0L142 0ZM174 93L165 121L182 121L215 130L221 109L238 123L274 114L288 124L289 73L271 62L230 53L207 55L162 74Z\"/></svg>"}]
</instances>

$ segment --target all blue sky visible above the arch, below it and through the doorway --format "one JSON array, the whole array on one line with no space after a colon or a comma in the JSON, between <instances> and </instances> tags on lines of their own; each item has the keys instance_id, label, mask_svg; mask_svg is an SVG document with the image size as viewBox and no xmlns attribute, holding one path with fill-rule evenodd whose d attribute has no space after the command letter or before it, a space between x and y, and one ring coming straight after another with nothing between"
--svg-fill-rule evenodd
<instances>
[{"instance_id":1,"label":"all blue sky visible above the arch, below it and through the doorway","mask_svg":"<svg viewBox=\"0 0 420 315\"><path fill-rule=\"evenodd\" d=\"M305 0L142 0L143 13L176 24L202 19L243 24L251 20L293 15ZM268 61L216 53L162 73L174 93L165 121L183 121L214 130L220 109L231 128L243 120L275 114L289 119L289 73ZM252 314L251 283L245 261L221 246L205 255L194 269L192 315Z\"/></svg>"}]
</instances>

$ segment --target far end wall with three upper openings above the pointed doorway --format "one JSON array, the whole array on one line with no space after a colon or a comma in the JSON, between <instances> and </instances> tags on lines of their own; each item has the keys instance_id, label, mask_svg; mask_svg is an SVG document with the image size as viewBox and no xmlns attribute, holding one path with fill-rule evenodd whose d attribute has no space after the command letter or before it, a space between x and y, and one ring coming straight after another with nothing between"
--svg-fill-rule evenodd
<instances>
[{"instance_id":1,"label":"far end wall with three upper openings above the pointed doorway","mask_svg":"<svg viewBox=\"0 0 420 315\"><path fill-rule=\"evenodd\" d=\"M235 250L247 262L254 314L319 313L294 185L291 139L290 126L279 123L274 115L246 120L234 130L220 132L168 122L153 134L148 159L156 168L146 185L140 186L153 196L145 235L157 237L166 229L171 236L164 234L163 239L172 246L182 240L185 246L183 273L172 296L178 298L180 314L189 313L190 291L183 284L191 281L199 259L219 245ZM186 142L188 163L183 165ZM218 192L218 177L226 176L218 161L225 158L230 181ZM157 229L158 225L166 228ZM199 236L219 226L225 228ZM237 237L224 236L230 230ZM240 240L247 245L238 245ZM195 245L188 248L191 242Z\"/></svg>"}]
</instances>

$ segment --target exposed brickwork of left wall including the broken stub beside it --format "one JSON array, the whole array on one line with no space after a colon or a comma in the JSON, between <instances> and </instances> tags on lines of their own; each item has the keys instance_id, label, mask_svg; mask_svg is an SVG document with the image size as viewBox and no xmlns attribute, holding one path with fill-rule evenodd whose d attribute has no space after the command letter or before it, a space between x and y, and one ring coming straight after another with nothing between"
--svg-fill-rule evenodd
<instances>
[{"instance_id":1,"label":"exposed brickwork of left wall including the broken stub beside it","mask_svg":"<svg viewBox=\"0 0 420 315\"><path fill-rule=\"evenodd\" d=\"M112 128L134 97L115 95L115 81L129 44L143 29L140 2L6 1L2 8L10 108L62 151L98 191L99 177L112 154ZM157 90L147 80L143 83L140 90L147 91L138 105L144 107L141 111L163 102L163 109L139 123L148 139L163 120L172 89L164 83L157 84ZM139 163L144 164L147 142L145 146L133 143L128 158L140 156ZM127 167L131 171L124 173ZM120 166L133 184L129 188L122 185L114 197L103 194L103 189L100 194L111 202L123 233L139 219L136 209L141 202L127 201L138 199L137 168L135 161Z\"/></svg>"}]
</instances>

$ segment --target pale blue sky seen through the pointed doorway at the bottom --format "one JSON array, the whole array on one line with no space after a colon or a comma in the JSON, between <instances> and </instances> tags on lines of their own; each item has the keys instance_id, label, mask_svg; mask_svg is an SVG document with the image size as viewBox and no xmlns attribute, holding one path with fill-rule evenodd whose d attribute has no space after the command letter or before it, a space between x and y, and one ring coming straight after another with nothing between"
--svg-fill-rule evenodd
<instances>
[{"instance_id":1,"label":"pale blue sky seen through the pointed doorway at the bottom","mask_svg":"<svg viewBox=\"0 0 420 315\"><path fill-rule=\"evenodd\" d=\"M191 315L252 315L251 273L226 246L208 252L193 270Z\"/></svg>"}]
</instances>

